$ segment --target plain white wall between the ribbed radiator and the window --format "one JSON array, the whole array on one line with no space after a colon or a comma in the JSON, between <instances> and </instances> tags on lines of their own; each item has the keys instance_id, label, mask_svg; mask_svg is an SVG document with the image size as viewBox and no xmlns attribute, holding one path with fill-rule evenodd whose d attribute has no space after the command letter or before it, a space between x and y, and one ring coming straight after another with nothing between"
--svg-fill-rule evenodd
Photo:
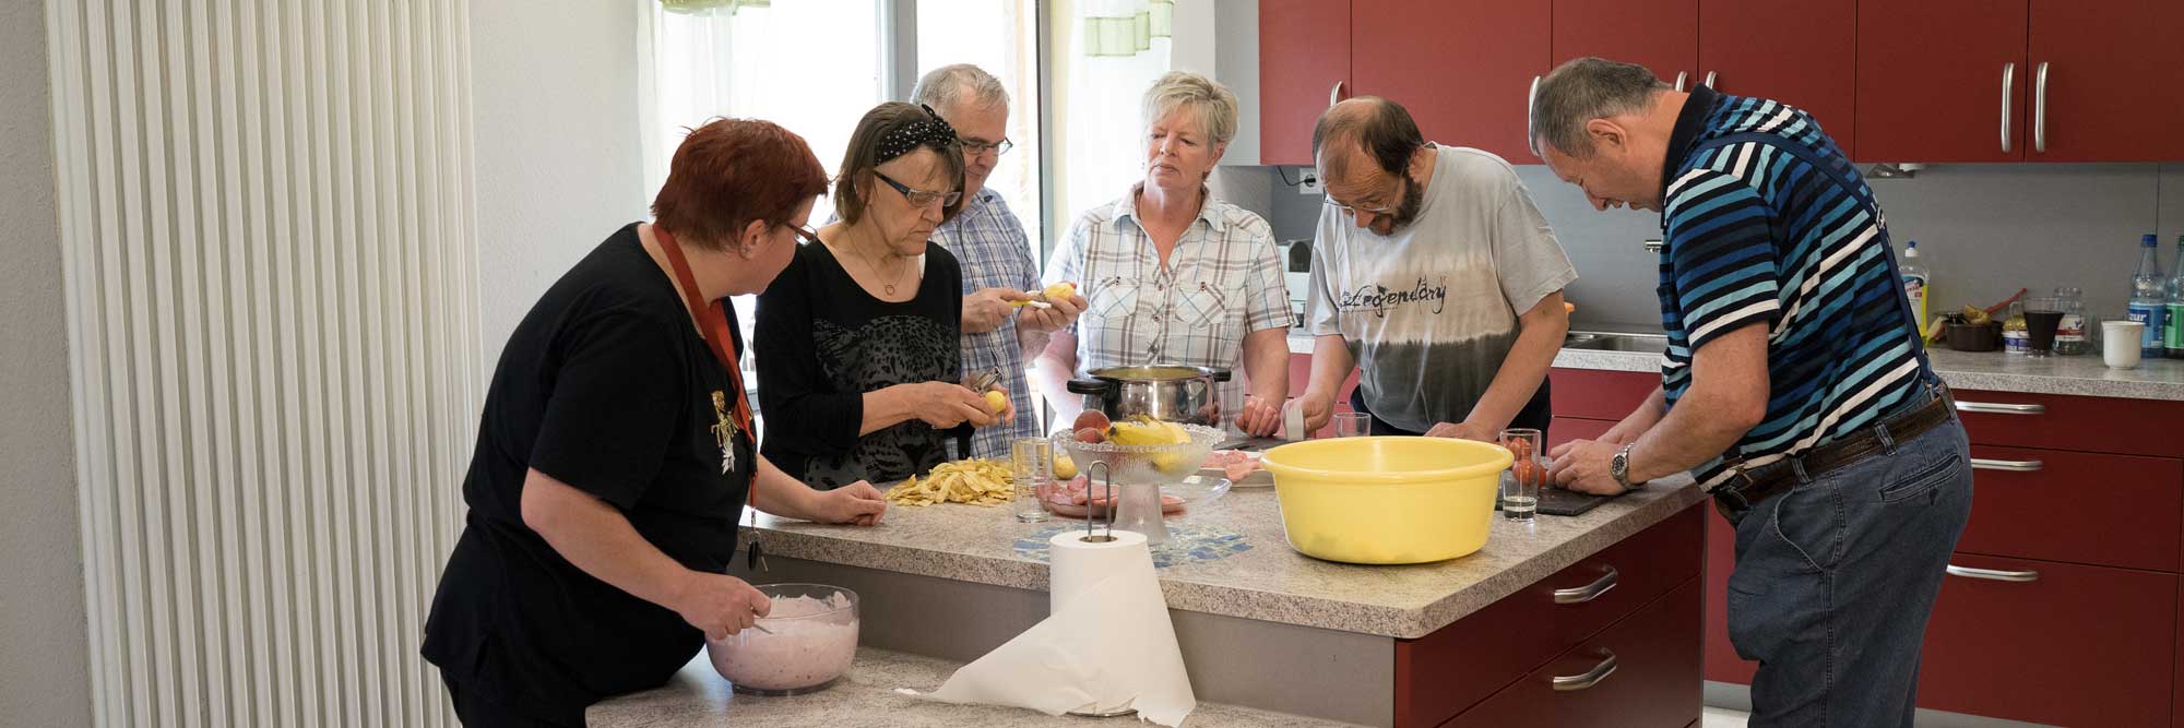
<instances>
[{"instance_id":1,"label":"plain white wall between the ribbed radiator and the window","mask_svg":"<svg viewBox=\"0 0 2184 728\"><path fill-rule=\"evenodd\" d=\"M638 137L640 0L474 0L485 362L531 303L618 227L649 218Z\"/></svg>"}]
</instances>

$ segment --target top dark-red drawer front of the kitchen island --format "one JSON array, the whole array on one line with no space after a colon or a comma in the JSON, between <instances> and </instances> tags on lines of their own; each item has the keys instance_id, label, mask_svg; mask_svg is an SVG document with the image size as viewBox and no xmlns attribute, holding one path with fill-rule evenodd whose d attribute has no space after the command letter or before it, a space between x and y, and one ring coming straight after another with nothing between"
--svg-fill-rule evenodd
<instances>
[{"instance_id":1,"label":"top dark-red drawer front of the kitchen island","mask_svg":"<svg viewBox=\"0 0 2184 728\"><path fill-rule=\"evenodd\" d=\"M1396 641L1396 726L1435 726L1697 578L1706 514L1684 508L1439 632ZM1697 610L1690 619L1697 656Z\"/></svg>"}]
</instances>

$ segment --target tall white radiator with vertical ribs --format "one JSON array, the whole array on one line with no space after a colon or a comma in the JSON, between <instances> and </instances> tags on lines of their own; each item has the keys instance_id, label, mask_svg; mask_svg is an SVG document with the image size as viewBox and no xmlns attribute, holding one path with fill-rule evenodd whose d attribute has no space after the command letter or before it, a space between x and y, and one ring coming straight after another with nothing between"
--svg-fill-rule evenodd
<instances>
[{"instance_id":1,"label":"tall white radiator with vertical ribs","mask_svg":"<svg viewBox=\"0 0 2184 728\"><path fill-rule=\"evenodd\" d=\"M465 13L46 0L98 726L452 724Z\"/></svg>"}]
</instances>

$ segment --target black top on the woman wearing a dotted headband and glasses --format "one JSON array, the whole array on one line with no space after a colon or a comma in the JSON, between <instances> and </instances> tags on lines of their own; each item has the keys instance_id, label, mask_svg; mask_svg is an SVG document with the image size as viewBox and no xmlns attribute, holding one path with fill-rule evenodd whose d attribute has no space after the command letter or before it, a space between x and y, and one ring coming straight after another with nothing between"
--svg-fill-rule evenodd
<instances>
[{"instance_id":1,"label":"black top on the woman wearing a dotted headband and glasses","mask_svg":"<svg viewBox=\"0 0 2184 728\"><path fill-rule=\"evenodd\" d=\"M858 436L865 392L895 384L963 381L963 268L926 246L924 281L902 303L874 299L823 244L797 257L758 296L751 357L767 414L767 460L812 488L878 486L948 460L948 436L906 421Z\"/></svg>"}]
</instances>

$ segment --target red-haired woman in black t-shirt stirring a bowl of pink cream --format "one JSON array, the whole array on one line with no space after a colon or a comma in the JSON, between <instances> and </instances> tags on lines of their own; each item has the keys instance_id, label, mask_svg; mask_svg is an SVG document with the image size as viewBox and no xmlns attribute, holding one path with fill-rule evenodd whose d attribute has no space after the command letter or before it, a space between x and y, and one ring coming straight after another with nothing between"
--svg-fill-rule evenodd
<instances>
[{"instance_id":1,"label":"red-haired woman in black t-shirt stirring a bowl of pink cream","mask_svg":"<svg viewBox=\"0 0 2184 728\"><path fill-rule=\"evenodd\" d=\"M583 726L592 702L657 687L701 636L764 617L769 599L723 573L749 508L878 523L871 484L819 493L756 453L736 368L727 296L788 266L823 192L795 133L703 124L655 222L601 242L509 336L424 639L463 724Z\"/></svg>"}]
</instances>

